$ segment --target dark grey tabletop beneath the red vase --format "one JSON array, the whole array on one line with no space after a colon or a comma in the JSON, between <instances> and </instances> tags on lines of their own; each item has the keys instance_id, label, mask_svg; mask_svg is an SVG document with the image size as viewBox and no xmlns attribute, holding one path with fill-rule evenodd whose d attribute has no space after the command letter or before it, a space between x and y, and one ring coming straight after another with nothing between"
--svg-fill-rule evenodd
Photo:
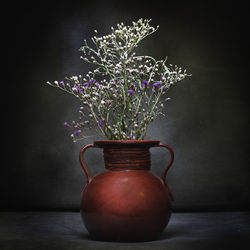
<instances>
[{"instance_id":1,"label":"dark grey tabletop beneath the red vase","mask_svg":"<svg viewBox=\"0 0 250 250\"><path fill-rule=\"evenodd\" d=\"M150 225L149 225L150 226ZM158 240L92 240L79 212L0 212L0 249L250 249L250 212L173 213Z\"/></svg>"}]
</instances>

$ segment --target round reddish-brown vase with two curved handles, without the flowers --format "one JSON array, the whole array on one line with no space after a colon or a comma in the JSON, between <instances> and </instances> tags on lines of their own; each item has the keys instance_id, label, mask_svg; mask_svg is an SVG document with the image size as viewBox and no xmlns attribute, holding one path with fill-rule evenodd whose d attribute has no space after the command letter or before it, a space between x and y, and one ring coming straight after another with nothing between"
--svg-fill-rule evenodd
<instances>
[{"instance_id":1,"label":"round reddish-brown vase with two curved handles, without the flowers","mask_svg":"<svg viewBox=\"0 0 250 250\"><path fill-rule=\"evenodd\" d=\"M91 178L83 161L86 149L103 148L106 170ZM162 178L150 170L150 147L165 147L171 159ZM173 150L159 141L95 141L80 151L87 183L82 191L81 216L90 233L104 241L149 241L165 229L173 196L166 174Z\"/></svg>"}]
</instances>

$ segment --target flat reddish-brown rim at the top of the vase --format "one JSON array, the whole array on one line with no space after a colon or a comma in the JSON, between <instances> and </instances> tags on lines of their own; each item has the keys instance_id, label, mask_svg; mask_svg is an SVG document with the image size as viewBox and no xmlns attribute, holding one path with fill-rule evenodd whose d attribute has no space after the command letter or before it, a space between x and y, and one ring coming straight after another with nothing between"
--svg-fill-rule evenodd
<instances>
[{"instance_id":1,"label":"flat reddish-brown rim at the top of the vase","mask_svg":"<svg viewBox=\"0 0 250 250\"><path fill-rule=\"evenodd\" d=\"M153 147L160 143L158 140L96 140L94 145L97 147L105 146L145 146Z\"/></svg>"}]
</instances>

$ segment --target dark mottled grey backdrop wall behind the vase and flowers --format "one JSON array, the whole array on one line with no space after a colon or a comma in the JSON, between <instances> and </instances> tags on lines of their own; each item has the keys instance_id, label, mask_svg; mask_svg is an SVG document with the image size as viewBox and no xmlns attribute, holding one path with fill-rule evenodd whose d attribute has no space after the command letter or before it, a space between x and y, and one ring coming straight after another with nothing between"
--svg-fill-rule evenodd
<instances>
[{"instance_id":1,"label":"dark mottled grey backdrop wall behind the vase and flowers","mask_svg":"<svg viewBox=\"0 0 250 250\"><path fill-rule=\"evenodd\" d=\"M245 1L246 2L246 1ZM46 81L87 73L78 48L97 29L152 18L157 33L145 53L187 68L192 77L175 85L166 118L147 139L173 147L168 183L174 210L246 210L250 207L248 8L240 1L8 2L2 8L1 210L78 209L85 176L80 148L63 127L78 118L80 103ZM152 149L152 171L169 160ZM104 169L102 152L86 162Z\"/></svg>"}]
</instances>

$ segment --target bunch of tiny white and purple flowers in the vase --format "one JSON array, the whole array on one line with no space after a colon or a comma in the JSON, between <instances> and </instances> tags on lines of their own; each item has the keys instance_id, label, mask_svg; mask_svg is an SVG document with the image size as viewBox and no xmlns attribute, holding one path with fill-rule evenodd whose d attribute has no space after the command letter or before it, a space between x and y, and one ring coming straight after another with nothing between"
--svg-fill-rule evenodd
<instances>
[{"instance_id":1,"label":"bunch of tiny white and purple flowers in the vase","mask_svg":"<svg viewBox=\"0 0 250 250\"><path fill-rule=\"evenodd\" d=\"M84 77L71 76L64 81L47 82L78 98L82 105L79 121L65 122L73 129L76 142L85 138L83 131L93 129L110 140L143 140L149 124L164 115L164 103L171 98L167 90L183 80L186 70L166 65L165 60L137 55L135 49L147 36L157 31L150 19L139 19L126 26L111 27L111 33L91 38L93 46L84 40L79 49L83 61L93 64L93 71Z\"/></svg>"}]
</instances>

